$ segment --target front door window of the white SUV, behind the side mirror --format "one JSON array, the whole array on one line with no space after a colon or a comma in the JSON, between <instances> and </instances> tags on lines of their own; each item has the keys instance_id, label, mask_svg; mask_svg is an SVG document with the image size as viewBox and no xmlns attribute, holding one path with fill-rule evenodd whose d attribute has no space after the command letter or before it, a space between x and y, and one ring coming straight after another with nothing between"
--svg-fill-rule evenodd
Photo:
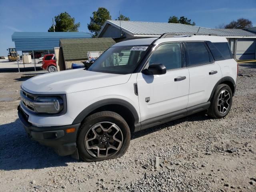
<instances>
[{"instance_id":1,"label":"front door window of the white SUV, behind the side mirror","mask_svg":"<svg viewBox=\"0 0 256 192\"><path fill-rule=\"evenodd\" d=\"M160 45L150 56L148 64L161 63L166 70L182 67L180 43L168 43Z\"/></svg>"}]
</instances>

